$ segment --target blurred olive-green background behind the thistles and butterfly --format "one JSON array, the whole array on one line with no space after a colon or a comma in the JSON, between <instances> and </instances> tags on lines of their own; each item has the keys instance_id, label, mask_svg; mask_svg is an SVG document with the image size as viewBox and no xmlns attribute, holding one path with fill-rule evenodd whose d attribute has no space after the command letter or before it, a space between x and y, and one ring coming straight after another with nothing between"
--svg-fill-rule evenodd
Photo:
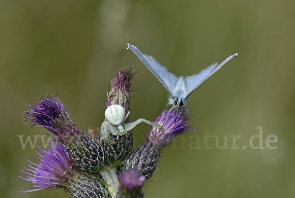
<instances>
[{"instance_id":1,"label":"blurred olive-green background behind the thistles and butterfly","mask_svg":"<svg viewBox=\"0 0 295 198\"><path fill-rule=\"evenodd\" d=\"M133 65L131 119L161 113L167 92L126 50L129 42L184 76L239 53L191 94L199 136L189 132L164 149L146 198L294 198L294 7L294 0L0 0L0 197L71 197L19 193L32 189L19 170L37 159L18 135L47 133L24 124L25 104L58 92L87 132L101 124L113 72ZM276 149L249 147L257 127L265 147L268 135L277 136ZM133 131L135 146L148 128ZM205 132L218 135L220 146L222 135L229 147L231 135L242 137L238 149L218 149L214 138L205 149ZM196 138L201 149L192 147Z\"/></svg>"}]
</instances>

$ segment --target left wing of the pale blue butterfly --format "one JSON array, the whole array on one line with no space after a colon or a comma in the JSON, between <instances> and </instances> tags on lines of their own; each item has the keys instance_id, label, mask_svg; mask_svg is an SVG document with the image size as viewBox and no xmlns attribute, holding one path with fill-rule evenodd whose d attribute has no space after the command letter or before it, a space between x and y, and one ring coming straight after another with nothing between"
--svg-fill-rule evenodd
<instances>
[{"instance_id":1,"label":"left wing of the pale blue butterfly","mask_svg":"<svg viewBox=\"0 0 295 198\"><path fill-rule=\"evenodd\" d=\"M166 67L161 66L161 64L159 64L154 58L141 53L134 45L130 45L129 43L127 43L127 45L173 96L173 90L177 84L178 78L170 73Z\"/></svg>"}]
</instances>

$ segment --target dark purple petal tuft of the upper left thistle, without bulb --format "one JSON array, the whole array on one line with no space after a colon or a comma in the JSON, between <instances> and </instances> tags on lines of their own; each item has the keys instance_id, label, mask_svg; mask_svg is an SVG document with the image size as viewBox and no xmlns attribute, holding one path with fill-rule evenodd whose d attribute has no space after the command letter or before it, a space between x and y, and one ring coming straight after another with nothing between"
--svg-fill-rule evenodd
<instances>
[{"instance_id":1,"label":"dark purple petal tuft of the upper left thistle, without bulb","mask_svg":"<svg viewBox=\"0 0 295 198\"><path fill-rule=\"evenodd\" d=\"M45 127L58 136L73 136L76 127L70 119L70 114L65 110L58 95L47 95L41 98L38 105L27 105L32 110L26 111L25 120L32 126Z\"/></svg>"}]
</instances>

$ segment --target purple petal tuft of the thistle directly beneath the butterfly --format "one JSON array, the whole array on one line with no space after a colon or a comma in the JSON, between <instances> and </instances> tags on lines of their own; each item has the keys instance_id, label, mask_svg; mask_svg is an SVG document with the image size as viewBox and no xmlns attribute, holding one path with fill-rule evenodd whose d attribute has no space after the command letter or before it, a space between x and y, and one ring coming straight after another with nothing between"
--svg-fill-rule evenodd
<instances>
[{"instance_id":1,"label":"purple petal tuft of the thistle directly beneath the butterfly","mask_svg":"<svg viewBox=\"0 0 295 198\"><path fill-rule=\"evenodd\" d=\"M171 143L177 135L190 131L189 127L187 127L187 117L183 111L177 112L177 110L174 110L171 111L169 115L168 113L169 111L167 110L163 111L155 121L155 123L161 126L164 124L163 129L165 135L163 132L159 132L156 127L152 127L150 132L148 132L147 142L153 143L154 146L158 145L164 148Z\"/></svg>"}]
</instances>

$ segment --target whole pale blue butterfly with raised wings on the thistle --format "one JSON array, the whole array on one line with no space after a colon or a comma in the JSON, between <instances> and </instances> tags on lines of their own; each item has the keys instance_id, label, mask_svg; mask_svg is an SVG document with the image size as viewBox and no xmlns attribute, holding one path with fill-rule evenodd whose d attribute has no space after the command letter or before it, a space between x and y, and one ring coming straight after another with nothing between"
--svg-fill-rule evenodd
<instances>
[{"instance_id":1,"label":"whole pale blue butterfly with raised wings on the thistle","mask_svg":"<svg viewBox=\"0 0 295 198\"><path fill-rule=\"evenodd\" d=\"M161 66L154 58L151 56L142 54L137 47L127 43L127 49L131 49L134 54L148 67L148 69L158 78L158 80L164 85L168 90L169 102L172 108L179 109L182 105L187 105L187 97L192 93L197 87L199 87L208 77L220 69L224 64L229 62L231 59L237 56L237 53L228 57L221 64L213 64L203 69L198 74L179 78L174 74L170 73L167 68ZM171 110L171 109L170 109ZM187 110L187 108L186 108ZM188 111L188 110L187 110Z\"/></svg>"}]
</instances>

